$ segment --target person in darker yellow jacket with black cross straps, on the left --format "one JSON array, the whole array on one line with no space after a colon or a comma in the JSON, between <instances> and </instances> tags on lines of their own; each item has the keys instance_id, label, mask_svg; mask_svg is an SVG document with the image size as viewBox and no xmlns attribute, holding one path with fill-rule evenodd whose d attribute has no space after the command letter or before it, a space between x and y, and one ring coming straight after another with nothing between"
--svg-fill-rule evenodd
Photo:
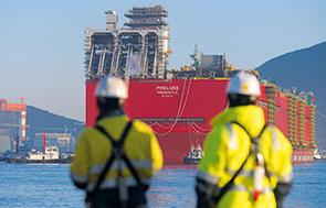
<instances>
[{"instance_id":1,"label":"person in darker yellow jacket with black cross straps, on the left","mask_svg":"<svg viewBox=\"0 0 326 208\"><path fill-rule=\"evenodd\" d=\"M162 166L162 152L153 130L132 122L122 106L125 83L114 76L96 89L99 117L80 136L71 175L86 190L90 207L146 207L145 191Z\"/></svg>"}]
</instances>

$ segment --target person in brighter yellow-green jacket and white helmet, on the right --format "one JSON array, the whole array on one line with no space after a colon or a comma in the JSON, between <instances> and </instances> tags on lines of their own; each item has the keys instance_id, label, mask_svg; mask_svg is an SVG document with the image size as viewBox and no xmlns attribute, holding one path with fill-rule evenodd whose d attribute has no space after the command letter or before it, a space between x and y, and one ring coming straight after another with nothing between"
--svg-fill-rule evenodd
<instances>
[{"instance_id":1,"label":"person in brighter yellow-green jacket and white helmet, on the right","mask_svg":"<svg viewBox=\"0 0 326 208\"><path fill-rule=\"evenodd\" d=\"M197 173L197 207L282 207L293 179L292 146L266 127L255 76L241 72L227 88L230 108L212 119Z\"/></svg>"}]
</instances>

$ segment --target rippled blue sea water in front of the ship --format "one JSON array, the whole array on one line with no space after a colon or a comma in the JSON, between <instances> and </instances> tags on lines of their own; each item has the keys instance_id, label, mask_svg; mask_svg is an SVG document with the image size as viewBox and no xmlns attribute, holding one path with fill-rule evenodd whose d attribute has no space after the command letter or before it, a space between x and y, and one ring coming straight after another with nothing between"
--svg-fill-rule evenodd
<instances>
[{"instance_id":1,"label":"rippled blue sea water in front of the ship","mask_svg":"<svg viewBox=\"0 0 326 208\"><path fill-rule=\"evenodd\" d=\"M0 162L0 207L85 207L69 164ZM149 207L194 207L194 165L166 165L153 179ZM294 187L284 207L326 207L326 162L294 165Z\"/></svg>"}]
</instances>

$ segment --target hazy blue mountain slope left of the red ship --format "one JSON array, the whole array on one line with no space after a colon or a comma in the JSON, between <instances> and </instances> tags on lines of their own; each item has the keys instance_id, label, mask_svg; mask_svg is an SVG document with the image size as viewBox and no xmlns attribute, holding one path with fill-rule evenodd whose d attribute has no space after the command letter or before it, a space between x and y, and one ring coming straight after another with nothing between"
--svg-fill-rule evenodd
<instances>
[{"instance_id":1,"label":"hazy blue mountain slope left of the red ship","mask_svg":"<svg viewBox=\"0 0 326 208\"><path fill-rule=\"evenodd\" d=\"M52 112L27 106L27 140L34 139L35 133L72 133L78 139L80 133L85 129L85 122L69 119ZM27 141L28 143L29 141ZM32 145L32 144L29 144Z\"/></svg>"}]
</instances>

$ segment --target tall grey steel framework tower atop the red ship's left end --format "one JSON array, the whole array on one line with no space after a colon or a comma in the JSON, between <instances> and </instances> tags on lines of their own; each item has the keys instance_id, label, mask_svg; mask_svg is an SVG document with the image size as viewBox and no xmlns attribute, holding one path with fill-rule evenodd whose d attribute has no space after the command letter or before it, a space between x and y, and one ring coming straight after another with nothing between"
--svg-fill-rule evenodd
<instances>
[{"instance_id":1,"label":"tall grey steel framework tower atop the red ship's left end","mask_svg":"<svg viewBox=\"0 0 326 208\"><path fill-rule=\"evenodd\" d=\"M168 12L162 6L148 8L134 7L125 17L125 28L118 29L115 11L107 11L106 29L87 29L85 39L86 80L97 80L106 75L123 76L135 56L141 78L165 78L169 28L165 20Z\"/></svg>"}]
</instances>

